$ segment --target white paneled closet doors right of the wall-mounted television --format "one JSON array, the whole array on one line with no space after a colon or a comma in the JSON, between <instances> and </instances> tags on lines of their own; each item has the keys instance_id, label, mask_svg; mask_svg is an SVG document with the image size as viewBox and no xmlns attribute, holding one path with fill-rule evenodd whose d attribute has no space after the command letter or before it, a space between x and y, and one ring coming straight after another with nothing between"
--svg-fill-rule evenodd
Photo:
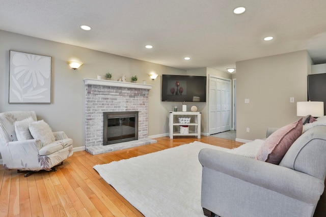
<instances>
[{"instance_id":1,"label":"white paneled closet doors right of the wall-mounted television","mask_svg":"<svg viewBox=\"0 0 326 217\"><path fill-rule=\"evenodd\" d=\"M209 134L231 130L231 80L209 76Z\"/></svg>"}]
</instances>

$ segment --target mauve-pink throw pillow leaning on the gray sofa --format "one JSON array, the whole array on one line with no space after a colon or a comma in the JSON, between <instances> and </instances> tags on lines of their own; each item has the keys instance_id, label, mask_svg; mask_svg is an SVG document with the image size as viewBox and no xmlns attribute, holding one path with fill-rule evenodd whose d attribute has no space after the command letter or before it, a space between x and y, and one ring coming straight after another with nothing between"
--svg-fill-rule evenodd
<instances>
[{"instance_id":1,"label":"mauve-pink throw pillow leaning on the gray sofa","mask_svg":"<svg viewBox=\"0 0 326 217\"><path fill-rule=\"evenodd\" d=\"M293 142L302 134L302 118L271 134L256 154L259 161L279 164Z\"/></svg>"}]
</instances>

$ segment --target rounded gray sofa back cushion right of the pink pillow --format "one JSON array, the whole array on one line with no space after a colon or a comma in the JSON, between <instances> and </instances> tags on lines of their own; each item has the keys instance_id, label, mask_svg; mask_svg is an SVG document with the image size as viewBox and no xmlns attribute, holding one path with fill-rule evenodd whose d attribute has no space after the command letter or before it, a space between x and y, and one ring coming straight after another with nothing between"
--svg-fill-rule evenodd
<instances>
[{"instance_id":1,"label":"rounded gray sofa back cushion right of the pink pillow","mask_svg":"<svg viewBox=\"0 0 326 217\"><path fill-rule=\"evenodd\" d=\"M286 152L280 166L324 180L326 176L326 126L316 126L302 134Z\"/></svg>"}]
</instances>

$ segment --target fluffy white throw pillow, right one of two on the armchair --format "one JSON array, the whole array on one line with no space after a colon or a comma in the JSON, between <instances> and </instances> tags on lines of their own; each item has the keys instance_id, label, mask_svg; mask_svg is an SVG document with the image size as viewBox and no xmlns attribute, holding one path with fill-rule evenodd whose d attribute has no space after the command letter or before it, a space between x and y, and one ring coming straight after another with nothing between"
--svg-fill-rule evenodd
<instances>
[{"instance_id":1,"label":"fluffy white throw pillow, right one of two on the armchair","mask_svg":"<svg viewBox=\"0 0 326 217\"><path fill-rule=\"evenodd\" d=\"M56 141L50 126L44 120L30 123L29 129L34 139L41 140L42 147Z\"/></svg>"}]
</instances>

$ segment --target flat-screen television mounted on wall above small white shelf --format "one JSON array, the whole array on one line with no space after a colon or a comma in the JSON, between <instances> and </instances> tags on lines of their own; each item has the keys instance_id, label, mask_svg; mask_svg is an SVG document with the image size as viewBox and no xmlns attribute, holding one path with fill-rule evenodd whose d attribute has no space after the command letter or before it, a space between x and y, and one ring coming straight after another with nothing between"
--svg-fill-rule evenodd
<instances>
[{"instance_id":1,"label":"flat-screen television mounted on wall above small white shelf","mask_svg":"<svg viewBox=\"0 0 326 217\"><path fill-rule=\"evenodd\" d=\"M162 75L162 102L206 102L206 76Z\"/></svg>"}]
</instances>

